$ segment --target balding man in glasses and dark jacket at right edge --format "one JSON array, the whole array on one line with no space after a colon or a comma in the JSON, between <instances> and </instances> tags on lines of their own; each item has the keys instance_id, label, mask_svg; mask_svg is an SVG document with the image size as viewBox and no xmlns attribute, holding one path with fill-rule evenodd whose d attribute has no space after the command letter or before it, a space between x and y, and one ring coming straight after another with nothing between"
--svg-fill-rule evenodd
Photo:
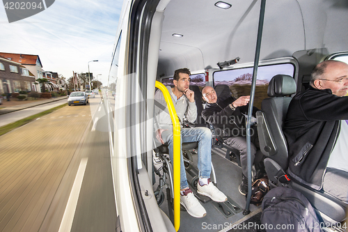
<instances>
[{"instance_id":1,"label":"balding man in glasses and dark jacket at right edge","mask_svg":"<svg viewBox=\"0 0 348 232\"><path fill-rule=\"evenodd\" d=\"M289 173L301 183L347 202L348 65L323 61L313 70L310 88L292 98L284 134Z\"/></svg>"}]
</instances>

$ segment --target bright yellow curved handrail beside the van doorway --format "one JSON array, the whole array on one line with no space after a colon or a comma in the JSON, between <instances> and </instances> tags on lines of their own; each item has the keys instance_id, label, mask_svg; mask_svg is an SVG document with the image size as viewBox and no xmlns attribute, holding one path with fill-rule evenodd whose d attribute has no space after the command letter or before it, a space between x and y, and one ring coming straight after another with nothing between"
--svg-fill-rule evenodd
<instances>
[{"instance_id":1,"label":"bright yellow curved handrail beside the van doorway","mask_svg":"<svg viewBox=\"0 0 348 232\"><path fill-rule=\"evenodd\" d=\"M161 82L155 84L159 88L166 100L169 114L173 123L173 187L174 187L174 227L175 231L180 228L180 123L168 89Z\"/></svg>"}]
</instances>

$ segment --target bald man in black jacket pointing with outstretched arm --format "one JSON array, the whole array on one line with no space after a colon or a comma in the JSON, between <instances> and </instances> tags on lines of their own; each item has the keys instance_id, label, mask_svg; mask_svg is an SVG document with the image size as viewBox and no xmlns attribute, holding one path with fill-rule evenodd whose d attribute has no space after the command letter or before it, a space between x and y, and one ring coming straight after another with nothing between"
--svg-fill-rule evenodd
<instances>
[{"instance_id":1,"label":"bald man in black jacket pointing with outstretched arm","mask_svg":"<svg viewBox=\"0 0 348 232\"><path fill-rule=\"evenodd\" d=\"M202 111L204 120L214 125L215 134L221 137L229 146L236 148L240 153L242 164L242 183L239 185L239 192L246 195L248 192L248 169L246 159L246 114L248 114L248 102L250 96L242 96L238 99L227 98L219 100L214 88L205 86L202 90L203 98L207 102L205 109ZM258 108L253 107L253 115ZM255 153L259 147L258 134L256 128L251 128L251 163L254 162ZM264 174L262 167L255 165L257 174L255 178L261 178Z\"/></svg>"}]
</instances>

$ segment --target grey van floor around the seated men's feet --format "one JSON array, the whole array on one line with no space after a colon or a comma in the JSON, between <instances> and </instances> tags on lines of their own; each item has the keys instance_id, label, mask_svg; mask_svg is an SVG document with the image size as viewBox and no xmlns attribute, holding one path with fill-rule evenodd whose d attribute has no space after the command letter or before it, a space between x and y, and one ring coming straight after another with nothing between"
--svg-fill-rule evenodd
<instances>
[{"instance_id":1,"label":"grey van floor around the seated men's feet","mask_svg":"<svg viewBox=\"0 0 348 232\"><path fill-rule=\"evenodd\" d=\"M195 153L193 151L193 153ZM200 196L196 193L193 187L190 186L196 197L200 199L200 203L207 211L207 215L203 218L191 217L184 208L180 213L180 230L179 231L264 231L260 226L261 206L250 204L248 215L244 215L246 207L246 197L239 193L238 186L242 180L242 168L236 162L225 158L225 148L212 148L212 163L216 175L216 186L226 196L228 203L223 204L222 208L219 203L216 203L206 196ZM193 163L197 164L197 155L193 155ZM198 172L195 168L187 172L187 180L189 185L194 176ZM158 186L158 176L154 191ZM165 194L166 196L166 194ZM165 198L160 206L166 215L170 218L168 211L168 201Z\"/></svg>"}]
</instances>

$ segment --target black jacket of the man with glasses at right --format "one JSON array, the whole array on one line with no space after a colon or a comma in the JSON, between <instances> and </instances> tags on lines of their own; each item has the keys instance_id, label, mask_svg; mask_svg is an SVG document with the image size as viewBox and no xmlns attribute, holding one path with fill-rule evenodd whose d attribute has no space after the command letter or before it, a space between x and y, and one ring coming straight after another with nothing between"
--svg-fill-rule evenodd
<instances>
[{"instance_id":1,"label":"black jacket of the man with glasses at right","mask_svg":"<svg viewBox=\"0 0 348 232\"><path fill-rule=\"evenodd\" d=\"M283 128L290 176L315 190L322 189L326 165L340 133L340 120L346 119L348 97L338 97L330 89L310 87L292 98Z\"/></svg>"}]
</instances>

